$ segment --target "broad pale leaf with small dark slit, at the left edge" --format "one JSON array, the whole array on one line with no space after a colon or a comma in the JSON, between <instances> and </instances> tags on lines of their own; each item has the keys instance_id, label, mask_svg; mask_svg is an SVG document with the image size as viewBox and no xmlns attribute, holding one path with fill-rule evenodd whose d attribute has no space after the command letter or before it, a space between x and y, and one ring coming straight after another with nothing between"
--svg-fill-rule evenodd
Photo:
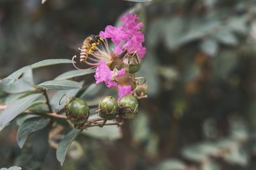
<instances>
[{"instance_id":1,"label":"broad pale leaf with small dark slit, at the left edge","mask_svg":"<svg viewBox=\"0 0 256 170\"><path fill-rule=\"evenodd\" d=\"M7 93L21 93L35 90L31 66L22 67L4 78L3 81L0 81L0 90Z\"/></svg>"}]
</instances>

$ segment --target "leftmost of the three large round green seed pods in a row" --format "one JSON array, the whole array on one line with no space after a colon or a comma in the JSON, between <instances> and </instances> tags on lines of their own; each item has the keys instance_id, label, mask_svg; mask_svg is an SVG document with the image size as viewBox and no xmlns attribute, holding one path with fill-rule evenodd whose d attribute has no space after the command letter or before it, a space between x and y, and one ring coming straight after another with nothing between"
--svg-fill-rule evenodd
<instances>
[{"instance_id":1,"label":"leftmost of the three large round green seed pods in a row","mask_svg":"<svg viewBox=\"0 0 256 170\"><path fill-rule=\"evenodd\" d=\"M83 99L70 97L67 99L65 108L68 120L70 120L75 127L83 125L88 120L90 114L89 107Z\"/></svg>"}]
</instances>

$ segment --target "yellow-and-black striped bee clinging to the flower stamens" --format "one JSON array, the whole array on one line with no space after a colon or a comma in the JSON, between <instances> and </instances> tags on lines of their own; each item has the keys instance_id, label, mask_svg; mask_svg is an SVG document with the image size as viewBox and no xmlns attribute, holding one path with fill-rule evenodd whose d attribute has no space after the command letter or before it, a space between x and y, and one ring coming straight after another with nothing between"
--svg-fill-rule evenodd
<instances>
[{"instance_id":1,"label":"yellow-and-black striped bee clinging to the flower stamens","mask_svg":"<svg viewBox=\"0 0 256 170\"><path fill-rule=\"evenodd\" d=\"M103 39L100 36L90 35L83 41L83 46L79 48L80 52L80 62L86 61L88 55L97 52L99 46L102 45Z\"/></svg>"}]
</instances>

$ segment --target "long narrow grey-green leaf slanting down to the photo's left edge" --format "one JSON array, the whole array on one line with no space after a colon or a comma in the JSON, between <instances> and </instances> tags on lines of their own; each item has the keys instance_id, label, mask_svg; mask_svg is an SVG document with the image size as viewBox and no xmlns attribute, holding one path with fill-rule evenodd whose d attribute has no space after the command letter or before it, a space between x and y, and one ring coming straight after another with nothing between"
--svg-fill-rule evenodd
<instances>
[{"instance_id":1,"label":"long narrow grey-green leaf slanting down to the photo's left edge","mask_svg":"<svg viewBox=\"0 0 256 170\"><path fill-rule=\"evenodd\" d=\"M12 104L8 104L7 108L0 115L0 131L5 127L13 118L17 117L20 113L25 111L33 101L38 99L42 94L31 94L26 97L22 97Z\"/></svg>"}]
</instances>

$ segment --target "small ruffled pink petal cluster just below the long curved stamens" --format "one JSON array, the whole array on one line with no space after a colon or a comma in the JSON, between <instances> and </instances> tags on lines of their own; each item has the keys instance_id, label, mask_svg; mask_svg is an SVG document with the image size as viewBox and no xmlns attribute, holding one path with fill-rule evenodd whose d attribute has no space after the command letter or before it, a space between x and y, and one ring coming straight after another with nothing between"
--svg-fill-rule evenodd
<instances>
[{"instance_id":1,"label":"small ruffled pink petal cluster just below the long curved stamens","mask_svg":"<svg viewBox=\"0 0 256 170\"><path fill-rule=\"evenodd\" d=\"M113 71L111 71L107 64L104 61L100 60L94 77L97 85L104 81L107 87L114 87L117 85L116 79L120 76L124 76L124 74L124 68L120 70L115 68Z\"/></svg>"}]
</instances>

